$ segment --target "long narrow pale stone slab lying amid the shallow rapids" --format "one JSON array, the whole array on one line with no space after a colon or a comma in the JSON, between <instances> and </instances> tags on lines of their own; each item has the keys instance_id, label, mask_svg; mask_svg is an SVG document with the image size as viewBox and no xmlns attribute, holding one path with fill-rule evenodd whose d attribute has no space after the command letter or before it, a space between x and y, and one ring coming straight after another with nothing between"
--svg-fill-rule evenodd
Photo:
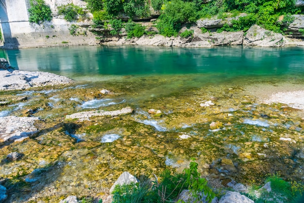
<instances>
[{"instance_id":1,"label":"long narrow pale stone slab lying amid the shallow rapids","mask_svg":"<svg viewBox=\"0 0 304 203\"><path fill-rule=\"evenodd\" d=\"M121 110L116 110L116 111L82 111L78 113L73 113L71 115L67 115L66 119L86 119L88 120L92 116L118 116L118 115L123 115L123 114L129 114L132 113L133 109L131 107L126 107L122 108Z\"/></svg>"}]
</instances>

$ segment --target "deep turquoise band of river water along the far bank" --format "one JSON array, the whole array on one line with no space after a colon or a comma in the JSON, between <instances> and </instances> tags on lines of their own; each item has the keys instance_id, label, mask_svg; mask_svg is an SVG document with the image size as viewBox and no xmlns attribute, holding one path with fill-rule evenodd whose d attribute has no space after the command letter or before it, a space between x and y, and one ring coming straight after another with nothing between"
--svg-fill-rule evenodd
<instances>
[{"instance_id":1,"label":"deep turquoise band of river water along the far bank","mask_svg":"<svg viewBox=\"0 0 304 203\"><path fill-rule=\"evenodd\" d=\"M13 67L79 76L209 74L304 76L303 48L75 46L2 50Z\"/></svg>"}]
</instances>

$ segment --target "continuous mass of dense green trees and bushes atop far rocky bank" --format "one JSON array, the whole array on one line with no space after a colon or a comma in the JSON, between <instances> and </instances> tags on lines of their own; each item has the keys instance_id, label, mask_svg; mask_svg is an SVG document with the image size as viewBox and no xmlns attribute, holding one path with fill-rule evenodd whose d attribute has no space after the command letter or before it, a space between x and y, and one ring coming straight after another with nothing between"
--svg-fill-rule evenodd
<instances>
[{"instance_id":1,"label":"continuous mass of dense green trees and bushes atop far rocky bank","mask_svg":"<svg viewBox=\"0 0 304 203\"><path fill-rule=\"evenodd\" d=\"M295 7L295 0L86 0L94 22L102 25L105 20L131 19L151 15L149 6L160 13L156 22L159 33L170 37L177 36L182 26L199 18L231 18L232 24L225 24L222 31L247 31L253 24L265 29L283 33L286 25L293 21L291 15L301 12ZM149 5L150 3L150 5ZM239 17L241 13L246 13ZM284 16L279 20L279 17ZM140 31L140 33L142 33Z\"/></svg>"}]
</instances>

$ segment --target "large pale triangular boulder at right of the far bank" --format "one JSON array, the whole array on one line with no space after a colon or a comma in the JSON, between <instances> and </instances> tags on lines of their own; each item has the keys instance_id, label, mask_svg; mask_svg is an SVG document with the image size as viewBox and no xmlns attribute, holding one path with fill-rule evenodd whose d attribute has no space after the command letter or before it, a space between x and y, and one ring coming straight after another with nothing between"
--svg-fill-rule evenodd
<instances>
[{"instance_id":1,"label":"large pale triangular boulder at right of the far bank","mask_svg":"<svg viewBox=\"0 0 304 203\"><path fill-rule=\"evenodd\" d=\"M243 44L260 47L280 47L285 45L285 38L282 34L265 30L258 25L253 25L247 31Z\"/></svg>"}]
</instances>

